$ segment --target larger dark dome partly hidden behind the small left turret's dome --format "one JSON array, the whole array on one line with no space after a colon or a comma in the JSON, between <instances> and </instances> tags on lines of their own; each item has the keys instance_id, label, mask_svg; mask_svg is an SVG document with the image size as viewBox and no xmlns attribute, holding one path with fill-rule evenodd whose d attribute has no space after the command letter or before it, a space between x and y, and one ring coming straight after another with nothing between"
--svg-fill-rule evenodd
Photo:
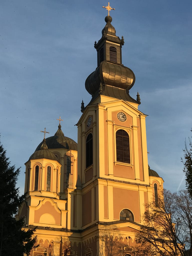
<instances>
[{"instance_id":1,"label":"larger dark dome partly hidden behind the small left turret's dome","mask_svg":"<svg viewBox=\"0 0 192 256\"><path fill-rule=\"evenodd\" d=\"M58 130L55 133L54 136L46 138L46 145L48 149L57 149L57 148L65 148L68 150L76 150L77 151L77 143L72 140L71 138L68 138L64 136L61 125L58 125ZM41 148L41 143L37 146L36 151L39 151Z\"/></svg>"}]
</instances>

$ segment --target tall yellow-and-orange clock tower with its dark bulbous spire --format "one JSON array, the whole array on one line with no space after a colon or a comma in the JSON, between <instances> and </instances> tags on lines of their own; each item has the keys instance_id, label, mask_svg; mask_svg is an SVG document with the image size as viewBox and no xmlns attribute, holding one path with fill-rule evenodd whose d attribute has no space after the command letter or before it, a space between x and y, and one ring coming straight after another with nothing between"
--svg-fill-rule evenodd
<instances>
[{"instance_id":1,"label":"tall yellow-and-orange clock tower with its dark bulbous spire","mask_svg":"<svg viewBox=\"0 0 192 256\"><path fill-rule=\"evenodd\" d=\"M133 71L122 64L124 39L116 36L112 17L105 17L96 42L98 67L85 82L92 95L78 126L78 175L81 185L81 227L130 220L141 222L150 188L146 115L138 110L140 95L129 90Z\"/></svg>"}]
</instances>

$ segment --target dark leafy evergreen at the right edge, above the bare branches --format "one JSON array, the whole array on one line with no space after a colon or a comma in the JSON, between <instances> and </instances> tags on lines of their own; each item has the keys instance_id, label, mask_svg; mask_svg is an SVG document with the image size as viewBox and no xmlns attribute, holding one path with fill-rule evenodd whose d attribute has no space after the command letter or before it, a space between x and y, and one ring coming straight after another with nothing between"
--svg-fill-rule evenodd
<instances>
[{"instance_id":1,"label":"dark leafy evergreen at the right edge, above the bare branches","mask_svg":"<svg viewBox=\"0 0 192 256\"><path fill-rule=\"evenodd\" d=\"M192 132L192 129L191 129ZM186 180L186 186L187 191L189 192L189 195L192 198L192 144L191 139L189 138L189 150L187 148L187 143L185 141L185 149L184 151L184 159L182 159L182 162L184 164L184 173L185 173L185 180Z\"/></svg>"}]
</instances>

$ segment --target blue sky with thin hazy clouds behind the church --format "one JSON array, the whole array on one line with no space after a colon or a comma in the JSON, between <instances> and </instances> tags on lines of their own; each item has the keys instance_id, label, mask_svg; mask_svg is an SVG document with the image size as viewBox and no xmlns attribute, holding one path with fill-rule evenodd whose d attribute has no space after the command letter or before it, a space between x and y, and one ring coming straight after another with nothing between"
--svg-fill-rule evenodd
<instances>
[{"instance_id":1,"label":"blue sky with thin hazy clouds behind the church","mask_svg":"<svg viewBox=\"0 0 192 256\"><path fill-rule=\"evenodd\" d=\"M97 67L94 41L108 12L104 0L2 0L0 3L0 133L11 165L25 165L53 136L61 116L65 136L77 142L81 101L91 95L86 78ZM122 63L136 81L145 113L148 163L164 188L185 189L183 148L191 133L191 0L112 0L112 25L124 37Z\"/></svg>"}]
</instances>

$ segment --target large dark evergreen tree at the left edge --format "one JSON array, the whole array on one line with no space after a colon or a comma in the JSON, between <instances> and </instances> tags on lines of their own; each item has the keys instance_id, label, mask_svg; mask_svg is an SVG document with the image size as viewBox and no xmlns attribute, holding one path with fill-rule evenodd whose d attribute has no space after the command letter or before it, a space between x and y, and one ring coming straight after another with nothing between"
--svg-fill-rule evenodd
<instances>
[{"instance_id":1,"label":"large dark evergreen tree at the left edge","mask_svg":"<svg viewBox=\"0 0 192 256\"><path fill-rule=\"evenodd\" d=\"M24 218L16 220L14 215L25 199L25 194L19 196L16 181L20 168L10 166L6 151L0 143L0 256L29 255L36 237L35 229L23 230Z\"/></svg>"}]
</instances>

